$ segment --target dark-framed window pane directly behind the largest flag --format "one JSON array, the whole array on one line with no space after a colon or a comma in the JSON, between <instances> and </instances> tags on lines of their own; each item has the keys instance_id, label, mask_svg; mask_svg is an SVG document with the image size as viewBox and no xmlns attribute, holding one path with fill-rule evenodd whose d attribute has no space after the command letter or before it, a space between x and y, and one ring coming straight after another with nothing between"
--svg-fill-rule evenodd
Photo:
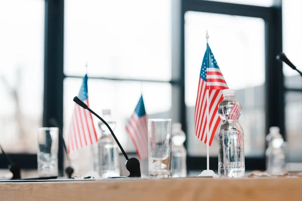
<instances>
[{"instance_id":1,"label":"dark-framed window pane directly behind the largest flag","mask_svg":"<svg viewBox=\"0 0 302 201\"><path fill-rule=\"evenodd\" d=\"M188 152L205 155L206 145L194 135L194 106L202 56L209 44L236 99L242 104L240 124L245 131L246 156L262 156L265 151L264 110L264 21L259 18L228 16L200 12L185 14L185 102L188 124ZM223 33L223 34L222 34ZM257 125L257 126L255 126ZM217 138L210 154L217 155Z\"/></svg>"}]
</instances>

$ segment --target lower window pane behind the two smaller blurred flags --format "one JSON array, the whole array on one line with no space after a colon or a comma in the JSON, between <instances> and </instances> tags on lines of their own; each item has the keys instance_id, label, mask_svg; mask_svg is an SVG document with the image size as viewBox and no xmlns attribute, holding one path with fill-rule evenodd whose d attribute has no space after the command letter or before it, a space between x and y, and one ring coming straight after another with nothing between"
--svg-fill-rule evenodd
<instances>
[{"instance_id":1,"label":"lower window pane behind the two smaller blurred flags","mask_svg":"<svg viewBox=\"0 0 302 201\"><path fill-rule=\"evenodd\" d=\"M81 84L81 78L66 78L64 81L65 135L68 133L68 126L73 111L72 98L79 93ZM140 84L140 82L134 81L88 79L90 107L98 114L102 114L102 109L112 109L111 115L117 121L114 133L127 152L135 152L132 141L126 133L125 126L136 107L141 91L149 118L170 117L172 102L170 83L143 82ZM95 118L94 121L96 131L99 133L99 120Z\"/></svg>"}]
</instances>

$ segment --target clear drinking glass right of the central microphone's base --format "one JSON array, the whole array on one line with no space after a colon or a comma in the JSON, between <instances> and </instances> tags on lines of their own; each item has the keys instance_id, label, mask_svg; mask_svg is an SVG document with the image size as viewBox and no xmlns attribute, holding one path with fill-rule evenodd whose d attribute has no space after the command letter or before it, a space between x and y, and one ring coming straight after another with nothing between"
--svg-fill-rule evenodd
<instances>
[{"instance_id":1,"label":"clear drinking glass right of the central microphone's base","mask_svg":"<svg viewBox=\"0 0 302 201\"><path fill-rule=\"evenodd\" d=\"M171 119L148 120L149 177L171 177Z\"/></svg>"}]
</instances>

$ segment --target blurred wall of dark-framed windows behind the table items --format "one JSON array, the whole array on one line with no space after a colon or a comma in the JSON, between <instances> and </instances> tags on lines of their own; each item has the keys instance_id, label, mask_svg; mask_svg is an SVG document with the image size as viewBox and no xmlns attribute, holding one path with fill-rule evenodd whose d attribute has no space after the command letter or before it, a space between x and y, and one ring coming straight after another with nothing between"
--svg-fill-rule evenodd
<instances>
[{"instance_id":1,"label":"blurred wall of dark-framed windows behind the table items","mask_svg":"<svg viewBox=\"0 0 302 201\"><path fill-rule=\"evenodd\" d=\"M55 118L67 138L88 63L90 106L99 114L111 109L128 153L135 148L124 128L142 92L149 117L182 124L188 170L206 168L206 146L194 134L206 29L243 106L246 169L265 169L270 126L280 127L289 165L298 167L302 78L275 56L283 51L302 69L300 0L1 0L0 143L23 169L35 170L36 129ZM70 155L77 173L90 170L89 154L88 147ZM60 141L60 172L63 161ZM217 141L210 161L217 169ZM0 168L7 165L0 153Z\"/></svg>"}]
</instances>

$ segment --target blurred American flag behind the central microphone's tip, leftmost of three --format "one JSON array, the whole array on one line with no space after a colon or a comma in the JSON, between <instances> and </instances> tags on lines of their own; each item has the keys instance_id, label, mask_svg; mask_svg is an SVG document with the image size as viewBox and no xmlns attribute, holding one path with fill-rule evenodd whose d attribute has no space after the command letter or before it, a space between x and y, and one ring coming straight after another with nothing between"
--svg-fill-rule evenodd
<instances>
[{"instance_id":1,"label":"blurred American flag behind the central microphone's tip, leftmost of three","mask_svg":"<svg viewBox=\"0 0 302 201\"><path fill-rule=\"evenodd\" d=\"M83 77L78 97L89 107L88 102L88 76ZM92 115L88 110L75 104L68 133L68 153L94 144L98 141L93 124Z\"/></svg>"}]
</instances>

